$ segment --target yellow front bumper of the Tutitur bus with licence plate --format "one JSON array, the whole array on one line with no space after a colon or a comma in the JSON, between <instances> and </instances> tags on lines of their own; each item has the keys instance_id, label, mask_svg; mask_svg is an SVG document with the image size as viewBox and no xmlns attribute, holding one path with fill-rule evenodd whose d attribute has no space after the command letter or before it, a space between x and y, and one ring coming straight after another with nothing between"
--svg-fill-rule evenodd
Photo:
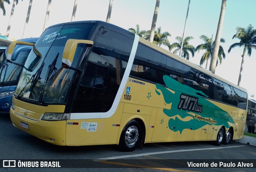
<instances>
[{"instance_id":1,"label":"yellow front bumper of the Tutitur bus with licence plate","mask_svg":"<svg viewBox=\"0 0 256 172\"><path fill-rule=\"evenodd\" d=\"M12 124L20 130L51 144L66 146L66 121L32 120L10 108Z\"/></svg>"}]
</instances>

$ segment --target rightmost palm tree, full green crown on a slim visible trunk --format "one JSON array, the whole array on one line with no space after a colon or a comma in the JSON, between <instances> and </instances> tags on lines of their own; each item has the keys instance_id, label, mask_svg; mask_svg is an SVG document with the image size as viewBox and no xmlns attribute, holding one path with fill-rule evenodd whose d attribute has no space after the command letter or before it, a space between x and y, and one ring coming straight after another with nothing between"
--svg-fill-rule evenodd
<instances>
[{"instance_id":1,"label":"rightmost palm tree, full green crown on a slim visible trunk","mask_svg":"<svg viewBox=\"0 0 256 172\"><path fill-rule=\"evenodd\" d=\"M243 54L242 54L240 74L239 74L238 84L237 84L238 86L240 86L242 70L244 65L244 56L245 56L246 50L247 50L248 56L250 57L252 54L252 49L256 49L256 29L253 29L253 26L250 24L247 28L237 27L236 30L237 32L232 39L238 38L240 39L240 42L232 44L228 49L228 53L230 53L230 51L235 47L244 47Z\"/></svg>"}]
</instances>

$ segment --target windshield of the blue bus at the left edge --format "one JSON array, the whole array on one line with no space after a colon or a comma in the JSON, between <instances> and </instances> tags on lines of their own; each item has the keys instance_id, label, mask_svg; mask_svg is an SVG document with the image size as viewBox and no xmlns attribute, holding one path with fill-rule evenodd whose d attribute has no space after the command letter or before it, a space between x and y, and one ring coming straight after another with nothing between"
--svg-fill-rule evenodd
<instances>
[{"instance_id":1,"label":"windshield of the blue bus at the left edge","mask_svg":"<svg viewBox=\"0 0 256 172\"><path fill-rule=\"evenodd\" d=\"M30 50L24 50L19 53L16 60L10 60L11 62L15 62L18 64L23 65L24 61L26 60L26 57L28 57ZM0 82L12 82L18 80L20 76L20 72L22 70L21 66L18 66L16 64L12 64L6 61L6 53L3 53L0 59L1 60L1 66L0 66ZM5 57L4 57L5 56Z\"/></svg>"}]
</instances>

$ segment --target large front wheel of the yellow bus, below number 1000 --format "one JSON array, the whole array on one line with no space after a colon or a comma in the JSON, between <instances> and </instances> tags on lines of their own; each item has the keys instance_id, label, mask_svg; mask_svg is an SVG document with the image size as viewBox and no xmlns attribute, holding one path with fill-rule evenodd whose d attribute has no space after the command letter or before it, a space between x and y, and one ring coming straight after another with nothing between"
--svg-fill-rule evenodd
<instances>
[{"instance_id":1,"label":"large front wheel of the yellow bus, below number 1000","mask_svg":"<svg viewBox=\"0 0 256 172\"><path fill-rule=\"evenodd\" d=\"M136 120L131 120L124 127L118 146L123 152L132 152L138 146L141 137L142 129L140 123Z\"/></svg>"}]
</instances>

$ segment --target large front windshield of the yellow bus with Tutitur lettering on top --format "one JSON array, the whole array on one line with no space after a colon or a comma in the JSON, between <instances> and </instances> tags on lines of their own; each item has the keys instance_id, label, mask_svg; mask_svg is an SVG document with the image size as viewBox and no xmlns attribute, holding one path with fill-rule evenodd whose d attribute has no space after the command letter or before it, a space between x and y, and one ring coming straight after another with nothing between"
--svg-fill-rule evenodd
<instances>
[{"instance_id":1,"label":"large front windshield of the yellow bus with Tutitur lettering on top","mask_svg":"<svg viewBox=\"0 0 256 172\"><path fill-rule=\"evenodd\" d=\"M67 24L48 28L28 56L15 95L36 102L65 104L76 72L62 68L64 46L68 39L87 40L92 27L93 24ZM74 62L79 61L84 48L85 44L78 44Z\"/></svg>"}]
</instances>

